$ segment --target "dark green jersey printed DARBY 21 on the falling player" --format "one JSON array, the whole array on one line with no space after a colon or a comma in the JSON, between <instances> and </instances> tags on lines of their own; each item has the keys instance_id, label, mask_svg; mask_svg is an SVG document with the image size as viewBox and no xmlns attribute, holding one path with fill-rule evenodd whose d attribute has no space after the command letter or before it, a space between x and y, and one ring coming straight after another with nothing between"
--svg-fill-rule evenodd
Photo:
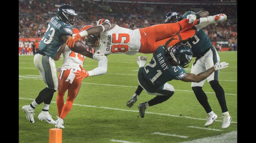
<instances>
[{"instance_id":1,"label":"dark green jersey printed DARBY 21 on the falling player","mask_svg":"<svg viewBox=\"0 0 256 143\"><path fill-rule=\"evenodd\" d=\"M144 67L144 70L139 70L139 72L143 72L138 75L143 75L143 80L154 88L161 88L168 81L180 80L186 76L181 66L167 64L164 45L156 49L151 61Z\"/></svg>"}]
</instances>

